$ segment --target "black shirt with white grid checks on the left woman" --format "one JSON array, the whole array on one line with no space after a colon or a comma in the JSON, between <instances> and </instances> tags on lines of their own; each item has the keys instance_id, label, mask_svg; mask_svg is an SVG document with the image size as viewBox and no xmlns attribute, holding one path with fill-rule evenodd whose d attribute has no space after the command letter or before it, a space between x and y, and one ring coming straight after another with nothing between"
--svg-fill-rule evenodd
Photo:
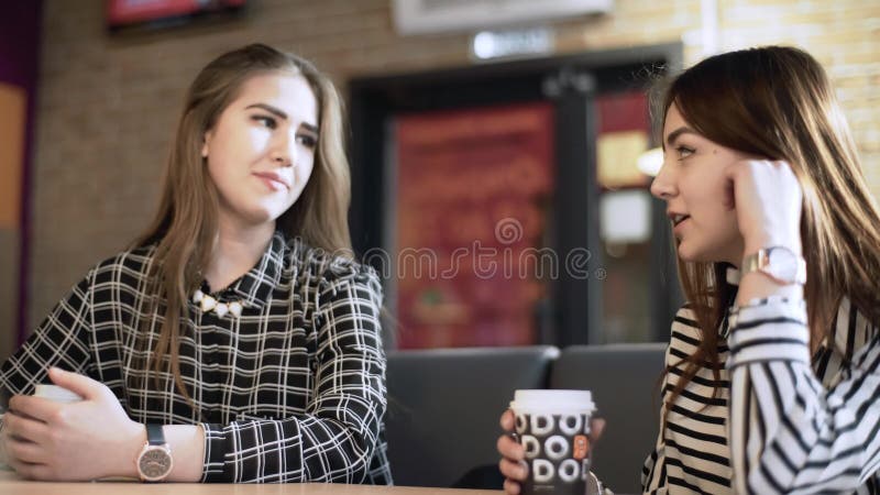
<instances>
[{"instance_id":1,"label":"black shirt with white grid checks on the left woman","mask_svg":"<svg viewBox=\"0 0 880 495\"><path fill-rule=\"evenodd\" d=\"M110 387L135 421L201 424L206 482L391 483L372 268L276 232L254 268L212 295L240 300L240 317L188 304L179 355L194 409L169 373L158 388L128 380L143 374L132 363L147 352L135 336L153 317L140 309L153 253L91 270L0 369L0 392L30 394L59 366Z\"/></svg>"}]
</instances>

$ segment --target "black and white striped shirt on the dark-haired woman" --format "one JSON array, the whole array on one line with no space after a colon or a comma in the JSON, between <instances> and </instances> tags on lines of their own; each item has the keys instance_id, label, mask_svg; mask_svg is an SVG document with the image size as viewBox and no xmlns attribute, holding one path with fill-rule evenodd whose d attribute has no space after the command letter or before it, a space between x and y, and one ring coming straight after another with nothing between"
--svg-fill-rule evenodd
<instances>
[{"instance_id":1,"label":"black and white striped shirt on the dark-haired woman","mask_svg":"<svg viewBox=\"0 0 880 495\"><path fill-rule=\"evenodd\" d=\"M703 367L676 399L645 463L645 493L880 493L878 329L844 299L811 358L805 305L771 298L732 308L719 331L721 381ZM698 339L685 306L667 365ZM664 398L684 366L668 374Z\"/></svg>"}]
</instances>

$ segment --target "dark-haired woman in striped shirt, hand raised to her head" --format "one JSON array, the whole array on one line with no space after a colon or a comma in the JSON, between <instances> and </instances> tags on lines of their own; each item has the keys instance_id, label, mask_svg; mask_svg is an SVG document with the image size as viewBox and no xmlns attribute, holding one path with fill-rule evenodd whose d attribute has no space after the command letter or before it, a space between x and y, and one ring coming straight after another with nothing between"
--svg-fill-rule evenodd
<instances>
[{"instance_id":1,"label":"dark-haired woman in striped shirt, hand raised to her head","mask_svg":"<svg viewBox=\"0 0 880 495\"><path fill-rule=\"evenodd\" d=\"M644 492L877 493L880 216L825 70L801 50L744 50L664 95L651 193L689 302ZM518 493L522 449L498 450Z\"/></svg>"}]
</instances>

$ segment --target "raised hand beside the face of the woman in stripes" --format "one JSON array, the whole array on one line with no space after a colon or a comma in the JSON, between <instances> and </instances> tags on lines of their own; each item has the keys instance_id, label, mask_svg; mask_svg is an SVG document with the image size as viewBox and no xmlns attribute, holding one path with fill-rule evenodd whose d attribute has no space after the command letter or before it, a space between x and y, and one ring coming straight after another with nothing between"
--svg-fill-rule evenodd
<instances>
[{"instance_id":1,"label":"raised hand beside the face of the woman in stripes","mask_svg":"<svg viewBox=\"0 0 880 495\"><path fill-rule=\"evenodd\" d=\"M739 232L748 255L759 249L783 245L800 254L803 190L788 162L743 160L727 167Z\"/></svg>"}]
</instances>

